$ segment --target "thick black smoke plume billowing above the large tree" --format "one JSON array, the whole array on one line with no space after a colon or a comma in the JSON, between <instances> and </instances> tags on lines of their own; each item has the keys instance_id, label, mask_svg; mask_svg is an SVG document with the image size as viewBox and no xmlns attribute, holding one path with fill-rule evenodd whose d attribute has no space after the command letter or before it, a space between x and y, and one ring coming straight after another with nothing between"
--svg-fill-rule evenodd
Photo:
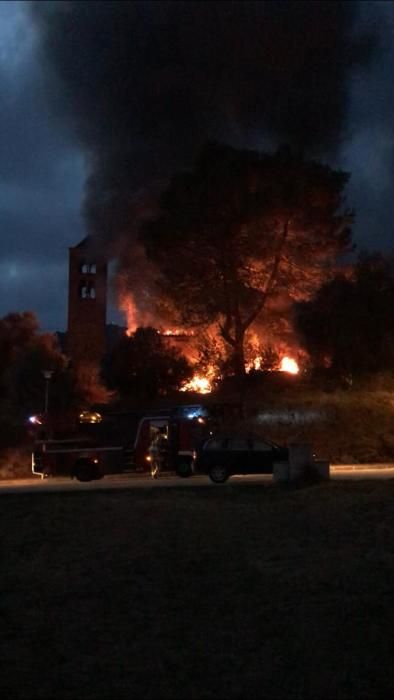
<instances>
[{"instance_id":1,"label":"thick black smoke plume billowing above the large tree","mask_svg":"<svg viewBox=\"0 0 394 700\"><path fill-rule=\"evenodd\" d=\"M90 163L91 232L130 232L130 198L207 139L334 153L348 82L375 41L356 2L37 2L53 105Z\"/></svg>"}]
</instances>

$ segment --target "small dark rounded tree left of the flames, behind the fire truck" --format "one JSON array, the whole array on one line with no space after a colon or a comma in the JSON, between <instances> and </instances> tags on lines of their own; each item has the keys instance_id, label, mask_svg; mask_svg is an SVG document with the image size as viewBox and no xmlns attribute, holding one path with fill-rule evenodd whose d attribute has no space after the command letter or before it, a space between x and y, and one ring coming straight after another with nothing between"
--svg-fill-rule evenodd
<instances>
[{"instance_id":1,"label":"small dark rounded tree left of the flames, behind the fire truck","mask_svg":"<svg viewBox=\"0 0 394 700\"><path fill-rule=\"evenodd\" d=\"M121 396L155 398L177 390L191 377L183 355L151 327L123 336L104 362L104 378Z\"/></svg>"}]
</instances>

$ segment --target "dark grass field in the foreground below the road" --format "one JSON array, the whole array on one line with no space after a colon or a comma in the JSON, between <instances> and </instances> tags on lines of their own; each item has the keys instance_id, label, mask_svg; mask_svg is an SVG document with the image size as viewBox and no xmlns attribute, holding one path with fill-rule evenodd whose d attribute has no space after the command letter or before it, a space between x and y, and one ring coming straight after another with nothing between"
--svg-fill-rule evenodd
<instances>
[{"instance_id":1,"label":"dark grass field in the foreground below the road","mask_svg":"<svg viewBox=\"0 0 394 700\"><path fill-rule=\"evenodd\" d=\"M3 698L383 698L394 482L1 496Z\"/></svg>"}]
</instances>

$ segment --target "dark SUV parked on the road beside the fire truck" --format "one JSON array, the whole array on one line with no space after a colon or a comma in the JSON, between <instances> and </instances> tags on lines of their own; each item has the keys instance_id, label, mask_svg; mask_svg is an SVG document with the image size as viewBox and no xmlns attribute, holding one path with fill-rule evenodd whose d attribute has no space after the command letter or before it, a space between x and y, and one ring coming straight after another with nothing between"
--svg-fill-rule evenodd
<instances>
[{"instance_id":1,"label":"dark SUV parked on the road beside the fire truck","mask_svg":"<svg viewBox=\"0 0 394 700\"><path fill-rule=\"evenodd\" d=\"M222 484L232 474L272 474L274 462L288 458L287 447L264 438L212 437L197 452L195 472Z\"/></svg>"}]
</instances>

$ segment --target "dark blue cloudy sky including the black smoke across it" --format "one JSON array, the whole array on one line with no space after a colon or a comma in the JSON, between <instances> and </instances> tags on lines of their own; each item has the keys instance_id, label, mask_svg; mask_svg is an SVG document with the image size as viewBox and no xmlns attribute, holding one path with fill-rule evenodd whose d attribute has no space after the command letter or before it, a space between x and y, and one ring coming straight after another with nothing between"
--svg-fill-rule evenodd
<instances>
[{"instance_id":1,"label":"dark blue cloudy sky including the black smoke across it","mask_svg":"<svg viewBox=\"0 0 394 700\"><path fill-rule=\"evenodd\" d=\"M0 315L63 330L68 246L127 249L208 138L350 170L355 242L393 248L392 2L0 2L0 99Z\"/></svg>"}]
</instances>

